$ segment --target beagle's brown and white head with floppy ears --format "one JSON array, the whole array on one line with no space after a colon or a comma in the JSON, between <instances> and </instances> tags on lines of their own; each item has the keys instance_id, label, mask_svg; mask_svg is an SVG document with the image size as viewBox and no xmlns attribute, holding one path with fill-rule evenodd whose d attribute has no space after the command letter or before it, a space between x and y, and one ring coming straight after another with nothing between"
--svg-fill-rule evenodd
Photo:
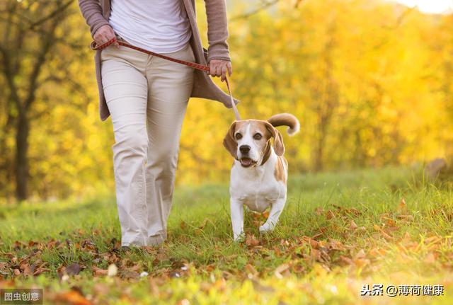
<instances>
[{"instance_id":1,"label":"beagle's brown and white head with floppy ears","mask_svg":"<svg viewBox=\"0 0 453 305\"><path fill-rule=\"evenodd\" d=\"M275 154L282 156L285 153L282 134L273 125L262 120L240 120L229 127L224 146L234 159L241 162L241 166L250 167L262 163L270 149L271 139L274 139Z\"/></svg>"}]
</instances>

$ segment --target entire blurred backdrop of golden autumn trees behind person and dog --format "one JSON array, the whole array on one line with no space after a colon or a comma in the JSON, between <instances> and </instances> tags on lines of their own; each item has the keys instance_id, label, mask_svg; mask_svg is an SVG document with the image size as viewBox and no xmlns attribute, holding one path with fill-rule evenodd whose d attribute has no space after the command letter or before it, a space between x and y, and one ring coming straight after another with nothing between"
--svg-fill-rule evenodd
<instances>
[{"instance_id":1,"label":"entire blurred backdrop of golden autumn trees behind person and dog","mask_svg":"<svg viewBox=\"0 0 453 305\"><path fill-rule=\"evenodd\" d=\"M382 0L227 2L239 110L299 117L300 134L285 137L293 173L453 154L452 15ZM113 190L113 131L98 119L90 41L74 0L0 2L4 200ZM226 181L229 111L191 100L178 183Z\"/></svg>"}]
</instances>

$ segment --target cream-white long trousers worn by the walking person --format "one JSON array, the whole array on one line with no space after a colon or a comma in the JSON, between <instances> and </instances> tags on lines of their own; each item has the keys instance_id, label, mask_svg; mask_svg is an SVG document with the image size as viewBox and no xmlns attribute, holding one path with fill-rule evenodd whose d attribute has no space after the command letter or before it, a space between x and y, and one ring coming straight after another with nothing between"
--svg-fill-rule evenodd
<instances>
[{"instance_id":1,"label":"cream-white long trousers worn by the walking person","mask_svg":"<svg viewBox=\"0 0 453 305\"><path fill-rule=\"evenodd\" d=\"M166 54L193 62L190 45ZM113 168L122 246L156 246L167 236L179 137L193 68L127 47L101 52L113 122Z\"/></svg>"}]
</instances>

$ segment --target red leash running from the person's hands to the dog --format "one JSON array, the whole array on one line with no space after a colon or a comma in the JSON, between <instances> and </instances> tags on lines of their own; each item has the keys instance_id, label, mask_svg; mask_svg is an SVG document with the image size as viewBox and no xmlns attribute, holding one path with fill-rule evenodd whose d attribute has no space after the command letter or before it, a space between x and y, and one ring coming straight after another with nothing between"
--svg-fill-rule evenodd
<instances>
[{"instance_id":1,"label":"red leash running from the person's hands to the dog","mask_svg":"<svg viewBox=\"0 0 453 305\"><path fill-rule=\"evenodd\" d=\"M149 55L152 55L152 56L160 57L160 58L169 60L171 62L177 62L178 64L185 64L188 67L193 67L195 69L198 69L198 70L201 70L201 71L205 71L205 72L209 72L210 71L210 67L204 66L202 64L197 64L196 62L186 62L185 60L180 60L180 59L176 59L176 58L173 58L173 57L168 57L168 56L165 56L165 55L162 55L162 54L158 54L158 53L155 53L155 52L151 52L151 51L148 51L148 50L144 50L141 47L135 47L134 45L130 45L127 42L122 42L120 40L117 40L115 37L110 39L110 40L108 40L108 42L105 42L103 45L96 45L96 42L93 41L93 42L91 42L90 47L91 47L91 50L95 50L95 51L103 50L106 47L108 47L109 45L112 45L114 42L117 42L118 45L122 45L123 47L129 47L130 49L137 50L139 52L143 52L145 54L149 54ZM234 115L236 117L236 120L241 120L241 116L239 115L239 111L238 111L238 108L236 107L236 103L234 103L233 95L231 94L231 87L229 85L229 81L226 78L226 76L225 76L225 82L226 82L226 88L228 88L230 103L231 103L231 106L233 107Z\"/></svg>"}]
</instances>

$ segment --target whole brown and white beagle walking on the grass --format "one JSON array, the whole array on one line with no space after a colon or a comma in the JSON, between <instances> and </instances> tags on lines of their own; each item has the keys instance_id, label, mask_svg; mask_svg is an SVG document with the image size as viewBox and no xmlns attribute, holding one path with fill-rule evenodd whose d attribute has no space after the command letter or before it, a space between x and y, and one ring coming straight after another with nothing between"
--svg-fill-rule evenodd
<instances>
[{"instance_id":1,"label":"whole brown and white beagle walking on the grass","mask_svg":"<svg viewBox=\"0 0 453 305\"><path fill-rule=\"evenodd\" d=\"M256 212L270 206L269 217L260 226L260 233L275 228L285 207L288 163L283 156L282 134L275 129L282 125L289 127L290 136L300 128L294 115L280 113L267 121L235 121L226 133L223 144L234 157L229 193L235 241L243 237L243 205Z\"/></svg>"}]
</instances>

